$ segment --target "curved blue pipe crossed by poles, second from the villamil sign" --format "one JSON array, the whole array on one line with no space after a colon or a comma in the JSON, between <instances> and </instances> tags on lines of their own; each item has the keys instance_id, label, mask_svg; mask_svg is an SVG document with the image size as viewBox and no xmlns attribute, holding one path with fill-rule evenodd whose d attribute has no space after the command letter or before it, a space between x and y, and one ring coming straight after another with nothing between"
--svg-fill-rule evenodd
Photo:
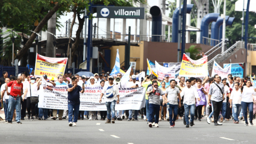
<instances>
[{"instance_id":1,"label":"curved blue pipe crossed by poles, second from the villamil sign","mask_svg":"<svg viewBox=\"0 0 256 144\"><path fill-rule=\"evenodd\" d=\"M187 13L190 13L194 4L187 4ZM183 13L183 5L181 5L181 14ZM179 7L173 12L172 15L172 42L178 43L179 34Z\"/></svg>"}]
</instances>

